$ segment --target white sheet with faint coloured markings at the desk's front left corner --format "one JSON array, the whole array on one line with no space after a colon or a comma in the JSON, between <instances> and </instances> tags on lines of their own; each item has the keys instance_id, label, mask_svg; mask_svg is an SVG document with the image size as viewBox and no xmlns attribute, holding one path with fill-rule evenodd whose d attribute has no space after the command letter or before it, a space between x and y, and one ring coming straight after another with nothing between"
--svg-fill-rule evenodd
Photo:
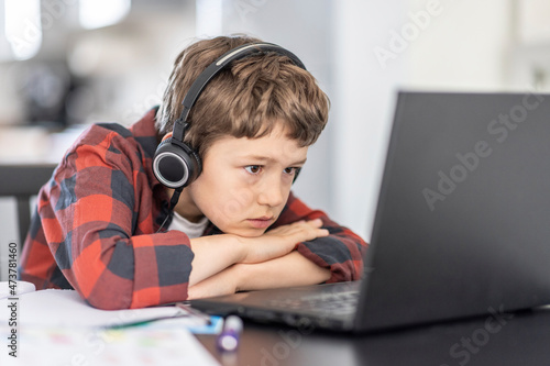
<instances>
[{"instance_id":1,"label":"white sheet with faint coloured markings at the desk's front left corner","mask_svg":"<svg viewBox=\"0 0 550 366\"><path fill-rule=\"evenodd\" d=\"M0 326L0 337L8 337L6 328ZM22 328L18 357L8 356L2 350L0 365L215 366L219 363L186 329L54 330L38 326Z\"/></svg>"}]
</instances>

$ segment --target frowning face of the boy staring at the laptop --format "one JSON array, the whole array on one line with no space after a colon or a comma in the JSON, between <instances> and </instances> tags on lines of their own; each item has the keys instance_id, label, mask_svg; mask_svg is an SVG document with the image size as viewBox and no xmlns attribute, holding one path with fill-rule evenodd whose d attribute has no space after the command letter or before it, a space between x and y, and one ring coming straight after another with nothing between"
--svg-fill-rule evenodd
<instances>
[{"instance_id":1,"label":"frowning face of the boy staring at the laptop","mask_svg":"<svg viewBox=\"0 0 550 366\"><path fill-rule=\"evenodd\" d=\"M222 137L206 152L202 173L184 189L176 211L190 221L206 215L228 234L260 236L285 207L307 152L283 123L260 138Z\"/></svg>"}]
</instances>

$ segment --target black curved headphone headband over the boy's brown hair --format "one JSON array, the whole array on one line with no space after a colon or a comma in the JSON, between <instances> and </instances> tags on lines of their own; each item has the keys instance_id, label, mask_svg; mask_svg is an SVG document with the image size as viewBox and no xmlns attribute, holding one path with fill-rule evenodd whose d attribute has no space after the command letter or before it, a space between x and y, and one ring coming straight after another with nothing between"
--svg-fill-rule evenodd
<instances>
[{"instance_id":1,"label":"black curved headphone headband over the boy's brown hair","mask_svg":"<svg viewBox=\"0 0 550 366\"><path fill-rule=\"evenodd\" d=\"M184 106L182 114L174 122L174 138L180 142L184 141L184 133L188 123L187 118L189 117L189 112L208 82L231 62L261 52L274 52L279 55L287 56L296 66L306 69L306 66L295 54L273 43L250 43L228 51L210 64L202 73L200 73L197 79L191 84L189 91L186 93L184 101L182 102Z\"/></svg>"}]
</instances>

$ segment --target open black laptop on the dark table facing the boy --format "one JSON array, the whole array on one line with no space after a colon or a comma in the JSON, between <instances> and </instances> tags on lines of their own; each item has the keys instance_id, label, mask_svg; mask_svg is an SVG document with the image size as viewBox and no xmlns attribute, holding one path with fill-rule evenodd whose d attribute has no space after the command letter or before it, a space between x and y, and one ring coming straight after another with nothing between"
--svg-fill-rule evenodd
<instances>
[{"instance_id":1,"label":"open black laptop on the dark table facing the boy","mask_svg":"<svg viewBox=\"0 0 550 366\"><path fill-rule=\"evenodd\" d=\"M550 95L400 91L362 280L190 302L346 332L550 303Z\"/></svg>"}]
</instances>

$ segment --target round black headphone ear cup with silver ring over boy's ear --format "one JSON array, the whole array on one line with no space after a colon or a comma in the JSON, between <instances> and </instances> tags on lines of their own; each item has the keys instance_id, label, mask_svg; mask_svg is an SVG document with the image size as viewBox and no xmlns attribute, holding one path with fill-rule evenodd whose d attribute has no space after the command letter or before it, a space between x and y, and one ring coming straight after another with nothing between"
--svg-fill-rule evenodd
<instances>
[{"instance_id":1,"label":"round black headphone ear cup with silver ring over boy's ear","mask_svg":"<svg viewBox=\"0 0 550 366\"><path fill-rule=\"evenodd\" d=\"M153 157L153 173L164 186L180 188L190 185L202 170L200 157L185 143L163 141Z\"/></svg>"}]
</instances>

